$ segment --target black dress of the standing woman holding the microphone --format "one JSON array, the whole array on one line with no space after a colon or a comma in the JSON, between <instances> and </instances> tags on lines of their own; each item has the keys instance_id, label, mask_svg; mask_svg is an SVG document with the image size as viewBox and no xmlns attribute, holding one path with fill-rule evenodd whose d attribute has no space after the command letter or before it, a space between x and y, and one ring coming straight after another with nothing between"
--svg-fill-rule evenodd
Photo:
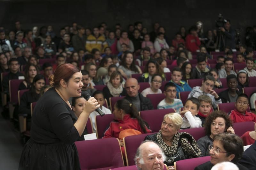
<instances>
[{"instance_id":1,"label":"black dress of the standing woman holding the microphone","mask_svg":"<svg viewBox=\"0 0 256 170\"><path fill-rule=\"evenodd\" d=\"M32 116L31 138L25 144L19 170L79 170L75 141L77 118L54 88L38 100Z\"/></svg>"}]
</instances>

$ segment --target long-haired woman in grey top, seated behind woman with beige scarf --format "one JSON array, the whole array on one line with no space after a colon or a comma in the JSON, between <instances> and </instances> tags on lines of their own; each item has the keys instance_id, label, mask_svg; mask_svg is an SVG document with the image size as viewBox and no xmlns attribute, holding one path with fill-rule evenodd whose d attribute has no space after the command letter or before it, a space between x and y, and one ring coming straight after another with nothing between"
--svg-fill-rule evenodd
<instances>
[{"instance_id":1,"label":"long-haired woman in grey top, seated behind woman with beige scarf","mask_svg":"<svg viewBox=\"0 0 256 170\"><path fill-rule=\"evenodd\" d=\"M118 71L120 71L124 78L131 78L132 74L142 73L140 67L135 65L135 60L131 52L127 52L124 54L121 64L118 67Z\"/></svg>"}]
</instances>

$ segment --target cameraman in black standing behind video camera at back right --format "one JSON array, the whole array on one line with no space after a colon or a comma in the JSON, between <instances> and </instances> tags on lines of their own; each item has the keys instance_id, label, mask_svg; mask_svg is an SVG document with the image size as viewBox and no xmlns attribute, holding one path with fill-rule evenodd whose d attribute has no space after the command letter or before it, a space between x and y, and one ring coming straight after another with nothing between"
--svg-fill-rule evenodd
<instances>
[{"instance_id":1,"label":"cameraman in black standing behind video camera at back right","mask_svg":"<svg viewBox=\"0 0 256 170\"><path fill-rule=\"evenodd\" d=\"M235 36L236 36L236 32L234 29L232 29L231 24L230 24L230 20L226 20L224 27L220 27L220 31L223 35L224 38L224 42L225 44L223 44L223 42L221 41L221 51L225 50L225 47L230 47L231 49L235 49Z\"/></svg>"}]
</instances>

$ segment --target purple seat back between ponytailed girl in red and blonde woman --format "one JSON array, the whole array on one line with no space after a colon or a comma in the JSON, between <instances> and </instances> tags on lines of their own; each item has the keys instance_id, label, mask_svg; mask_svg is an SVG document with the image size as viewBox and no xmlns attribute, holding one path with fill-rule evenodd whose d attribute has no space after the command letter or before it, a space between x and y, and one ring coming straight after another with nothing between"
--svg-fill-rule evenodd
<instances>
[{"instance_id":1,"label":"purple seat back between ponytailed girl in red and blonde woman","mask_svg":"<svg viewBox=\"0 0 256 170\"><path fill-rule=\"evenodd\" d=\"M153 132L158 132L164 120L164 115L168 113L175 113L175 110L172 108L158 109L158 110L144 110L144 111L140 111L140 117L148 123L150 129Z\"/></svg>"}]
</instances>

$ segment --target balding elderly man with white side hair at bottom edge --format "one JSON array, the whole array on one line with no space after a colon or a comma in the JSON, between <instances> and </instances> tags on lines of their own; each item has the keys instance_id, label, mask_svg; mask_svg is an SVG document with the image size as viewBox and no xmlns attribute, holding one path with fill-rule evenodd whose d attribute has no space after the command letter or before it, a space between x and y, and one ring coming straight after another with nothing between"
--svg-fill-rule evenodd
<instances>
[{"instance_id":1,"label":"balding elderly man with white side hair at bottom edge","mask_svg":"<svg viewBox=\"0 0 256 170\"><path fill-rule=\"evenodd\" d=\"M141 170L163 170L165 155L160 147L152 141L144 141L137 149L134 161Z\"/></svg>"}]
</instances>

